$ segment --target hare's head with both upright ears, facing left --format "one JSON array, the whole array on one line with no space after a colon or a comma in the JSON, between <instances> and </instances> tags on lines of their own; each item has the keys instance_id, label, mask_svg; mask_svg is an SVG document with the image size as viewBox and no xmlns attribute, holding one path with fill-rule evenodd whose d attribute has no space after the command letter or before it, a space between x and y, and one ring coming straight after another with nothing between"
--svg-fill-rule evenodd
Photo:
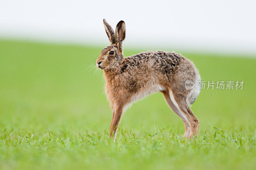
<instances>
[{"instance_id":1,"label":"hare's head with both upright ears, facing left","mask_svg":"<svg viewBox=\"0 0 256 170\"><path fill-rule=\"evenodd\" d=\"M103 19L103 24L111 45L100 52L96 65L102 70L107 70L116 67L116 64L119 65L124 60L122 43L125 39L125 24L124 21L118 22L116 33L105 19Z\"/></svg>"}]
</instances>

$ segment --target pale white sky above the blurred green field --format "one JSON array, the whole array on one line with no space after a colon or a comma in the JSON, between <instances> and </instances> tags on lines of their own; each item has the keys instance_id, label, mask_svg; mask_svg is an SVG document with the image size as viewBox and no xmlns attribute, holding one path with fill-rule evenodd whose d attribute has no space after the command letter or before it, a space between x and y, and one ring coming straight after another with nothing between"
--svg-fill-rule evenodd
<instances>
[{"instance_id":1,"label":"pale white sky above the blurred green field","mask_svg":"<svg viewBox=\"0 0 256 170\"><path fill-rule=\"evenodd\" d=\"M125 47L256 54L255 1L0 1L0 37L109 45L103 18L126 25Z\"/></svg>"}]
</instances>

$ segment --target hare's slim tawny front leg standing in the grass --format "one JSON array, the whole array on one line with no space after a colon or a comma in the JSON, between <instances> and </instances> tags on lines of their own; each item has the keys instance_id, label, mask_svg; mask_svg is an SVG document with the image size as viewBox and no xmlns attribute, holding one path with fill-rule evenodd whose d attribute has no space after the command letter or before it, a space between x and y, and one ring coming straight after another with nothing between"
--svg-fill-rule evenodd
<instances>
[{"instance_id":1,"label":"hare's slim tawny front leg standing in the grass","mask_svg":"<svg viewBox=\"0 0 256 170\"><path fill-rule=\"evenodd\" d=\"M118 107L113 110L111 125L109 129L109 137L113 137L113 140L116 138L116 130L118 128L118 124L121 120L121 116L123 114L123 107Z\"/></svg>"}]
</instances>

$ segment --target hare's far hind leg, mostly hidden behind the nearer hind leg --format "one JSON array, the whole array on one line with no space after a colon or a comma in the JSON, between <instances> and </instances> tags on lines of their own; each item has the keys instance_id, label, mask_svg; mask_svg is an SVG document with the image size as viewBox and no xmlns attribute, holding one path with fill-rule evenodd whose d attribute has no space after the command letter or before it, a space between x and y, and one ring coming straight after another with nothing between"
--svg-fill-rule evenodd
<instances>
[{"instance_id":1,"label":"hare's far hind leg, mostly hidden behind the nearer hind leg","mask_svg":"<svg viewBox=\"0 0 256 170\"><path fill-rule=\"evenodd\" d=\"M174 113L176 113L181 119L182 121L184 122L184 125L185 125L185 133L184 133L184 137L188 137L189 136L189 133L190 133L190 123L188 122L188 119L185 115L183 115L183 113L180 112L179 108L177 108L171 98L170 98L170 95L169 95L169 92L166 92L166 91L162 91L162 93L164 94L164 99L167 103L167 105L172 109L172 111Z\"/></svg>"}]
</instances>

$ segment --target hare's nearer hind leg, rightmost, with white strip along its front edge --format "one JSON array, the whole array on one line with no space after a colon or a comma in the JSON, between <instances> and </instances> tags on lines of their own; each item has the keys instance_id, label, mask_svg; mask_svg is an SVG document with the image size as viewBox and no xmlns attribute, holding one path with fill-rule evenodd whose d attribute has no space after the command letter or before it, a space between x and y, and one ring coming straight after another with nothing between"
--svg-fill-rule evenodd
<instances>
[{"instance_id":1,"label":"hare's nearer hind leg, rightmost, with white strip along its front edge","mask_svg":"<svg viewBox=\"0 0 256 170\"><path fill-rule=\"evenodd\" d=\"M184 96L181 96L180 94L176 94L172 90L170 90L170 98L173 104L177 108L179 108L179 111L183 113L183 115L185 115L185 117L188 119L188 122L190 124L190 133L188 135L188 138L193 137L193 135L197 136L199 130L199 120L188 106L186 98Z\"/></svg>"}]
</instances>

